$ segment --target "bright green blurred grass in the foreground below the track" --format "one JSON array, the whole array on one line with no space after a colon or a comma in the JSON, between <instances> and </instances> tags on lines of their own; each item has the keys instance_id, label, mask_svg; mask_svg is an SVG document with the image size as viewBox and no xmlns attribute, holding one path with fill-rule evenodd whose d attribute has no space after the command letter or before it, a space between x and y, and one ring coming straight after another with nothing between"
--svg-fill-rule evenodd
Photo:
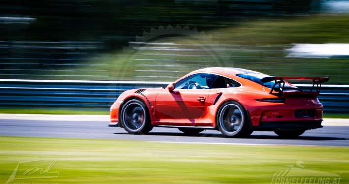
<instances>
[{"instance_id":1,"label":"bright green blurred grass in the foreground below the track","mask_svg":"<svg viewBox=\"0 0 349 184\"><path fill-rule=\"evenodd\" d=\"M18 162L56 161L58 178L15 182L59 184L270 184L297 161L305 169L340 173L349 182L348 147L252 146L128 140L0 137L0 183ZM21 165L45 167L42 162ZM23 172L23 171L22 171ZM16 177L21 177L18 171ZM343 172L343 173L342 173ZM37 173L36 173L37 174ZM39 175L43 176L43 175ZM310 176L309 176L310 177Z\"/></svg>"}]
</instances>

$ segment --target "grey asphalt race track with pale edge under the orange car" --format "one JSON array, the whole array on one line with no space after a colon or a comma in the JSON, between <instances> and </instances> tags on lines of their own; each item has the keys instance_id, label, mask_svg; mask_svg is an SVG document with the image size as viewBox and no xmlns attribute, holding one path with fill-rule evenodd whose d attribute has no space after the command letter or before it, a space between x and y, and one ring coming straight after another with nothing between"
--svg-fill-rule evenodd
<instances>
[{"instance_id":1,"label":"grey asphalt race track with pale edge under the orange car","mask_svg":"<svg viewBox=\"0 0 349 184\"><path fill-rule=\"evenodd\" d=\"M327 121L324 128L306 131L295 139L282 139L274 132L268 131L255 131L249 138L224 138L219 131L215 130L206 130L197 136L186 136L175 128L157 127L147 135L131 135L122 128L108 127L107 116L82 119L64 115L59 118L37 118L0 114L0 136L145 140L198 144L349 146L348 120L338 119L331 122L334 122L335 126L328 126Z\"/></svg>"}]
</instances>

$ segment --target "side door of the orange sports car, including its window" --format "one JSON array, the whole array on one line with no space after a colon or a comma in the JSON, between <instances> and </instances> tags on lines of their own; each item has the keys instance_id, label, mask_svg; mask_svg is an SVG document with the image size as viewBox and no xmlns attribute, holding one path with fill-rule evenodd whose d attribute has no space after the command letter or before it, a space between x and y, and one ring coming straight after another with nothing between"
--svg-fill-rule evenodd
<instances>
[{"instance_id":1,"label":"side door of the orange sports car, including its window","mask_svg":"<svg viewBox=\"0 0 349 184\"><path fill-rule=\"evenodd\" d=\"M160 123L195 123L204 112L210 80L205 73L193 74L177 82L173 91L162 90L155 109Z\"/></svg>"}]
</instances>

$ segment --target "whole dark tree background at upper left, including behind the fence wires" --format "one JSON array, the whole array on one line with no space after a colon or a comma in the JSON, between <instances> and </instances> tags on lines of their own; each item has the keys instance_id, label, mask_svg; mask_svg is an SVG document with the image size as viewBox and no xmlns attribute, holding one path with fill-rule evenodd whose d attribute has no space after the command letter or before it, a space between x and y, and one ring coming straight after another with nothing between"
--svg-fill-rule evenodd
<instances>
[{"instance_id":1,"label":"whole dark tree background at upper left, including behind the fence wires","mask_svg":"<svg viewBox=\"0 0 349 184\"><path fill-rule=\"evenodd\" d=\"M34 79L114 52L151 28L218 29L246 18L309 13L313 2L319 0L0 0L0 74Z\"/></svg>"}]
</instances>

